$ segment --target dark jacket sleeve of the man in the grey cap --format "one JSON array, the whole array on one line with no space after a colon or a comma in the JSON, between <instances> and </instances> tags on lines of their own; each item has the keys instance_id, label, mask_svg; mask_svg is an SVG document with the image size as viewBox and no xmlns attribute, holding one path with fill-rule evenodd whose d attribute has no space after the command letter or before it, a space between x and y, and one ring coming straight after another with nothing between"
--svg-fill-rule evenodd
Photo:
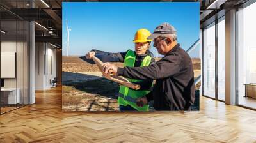
<instances>
[{"instance_id":1,"label":"dark jacket sleeve of the man in the grey cap","mask_svg":"<svg viewBox=\"0 0 256 143\"><path fill-rule=\"evenodd\" d=\"M170 54L150 66L118 68L117 75L131 79L163 79L178 73L181 64L179 55Z\"/></svg>"}]
</instances>

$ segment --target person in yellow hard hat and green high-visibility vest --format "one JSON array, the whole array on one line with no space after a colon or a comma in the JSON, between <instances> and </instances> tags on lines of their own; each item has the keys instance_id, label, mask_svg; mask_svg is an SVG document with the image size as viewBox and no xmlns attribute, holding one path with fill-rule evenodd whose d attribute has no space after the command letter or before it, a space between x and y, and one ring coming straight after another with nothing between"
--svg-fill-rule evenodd
<instances>
[{"instance_id":1,"label":"person in yellow hard hat and green high-visibility vest","mask_svg":"<svg viewBox=\"0 0 256 143\"><path fill-rule=\"evenodd\" d=\"M92 56L97 56L103 62L123 62L124 66L129 67L149 66L155 63L154 58L152 58L153 54L149 50L152 40L147 39L150 34L150 31L147 29L139 29L136 32L133 40L135 43L135 51L127 50L126 52L111 53L93 49L86 54L86 58L91 59ZM120 111L148 111L149 105L143 105L142 107L138 106L136 104L136 99L150 93L153 80L128 80L130 82L140 84L141 88L140 90L136 91L126 86L120 86L118 93L118 104Z\"/></svg>"}]
</instances>

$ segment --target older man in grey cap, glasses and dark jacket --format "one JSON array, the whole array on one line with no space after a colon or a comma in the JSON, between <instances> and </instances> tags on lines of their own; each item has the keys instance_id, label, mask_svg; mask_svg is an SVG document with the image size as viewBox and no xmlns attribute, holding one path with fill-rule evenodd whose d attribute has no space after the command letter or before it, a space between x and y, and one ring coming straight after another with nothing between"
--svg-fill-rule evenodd
<instances>
[{"instance_id":1,"label":"older man in grey cap, glasses and dark jacket","mask_svg":"<svg viewBox=\"0 0 256 143\"><path fill-rule=\"evenodd\" d=\"M177 43L177 31L164 22L156 27L148 39L154 41L164 57L151 66L117 68L104 64L105 73L131 79L156 79L153 91L138 98L138 105L154 100L155 110L190 110L195 99L194 72L191 58Z\"/></svg>"}]
</instances>

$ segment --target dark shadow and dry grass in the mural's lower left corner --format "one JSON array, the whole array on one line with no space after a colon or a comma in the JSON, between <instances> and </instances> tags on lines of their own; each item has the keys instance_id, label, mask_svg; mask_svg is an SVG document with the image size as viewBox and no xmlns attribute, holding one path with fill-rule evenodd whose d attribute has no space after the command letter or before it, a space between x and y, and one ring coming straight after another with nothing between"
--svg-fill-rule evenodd
<instances>
[{"instance_id":1,"label":"dark shadow and dry grass in the mural's lower left corner","mask_svg":"<svg viewBox=\"0 0 256 143\"><path fill-rule=\"evenodd\" d=\"M68 111L117 111L118 85L110 80L63 82L62 108Z\"/></svg>"}]
</instances>

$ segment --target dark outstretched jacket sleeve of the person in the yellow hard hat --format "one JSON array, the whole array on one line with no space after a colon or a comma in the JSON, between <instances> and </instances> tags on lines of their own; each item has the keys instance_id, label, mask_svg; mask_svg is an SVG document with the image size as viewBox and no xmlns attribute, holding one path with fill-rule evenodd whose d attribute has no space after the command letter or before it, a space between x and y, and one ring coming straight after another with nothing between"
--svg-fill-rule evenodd
<instances>
[{"instance_id":1,"label":"dark outstretched jacket sleeve of the person in the yellow hard hat","mask_svg":"<svg viewBox=\"0 0 256 143\"><path fill-rule=\"evenodd\" d=\"M102 62L124 62L126 52L117 52L117 53L111 53L111 52L104 52L101 50L91 50L95 52L95 56L98 57Z\"/></svg>"}]
</instances>

